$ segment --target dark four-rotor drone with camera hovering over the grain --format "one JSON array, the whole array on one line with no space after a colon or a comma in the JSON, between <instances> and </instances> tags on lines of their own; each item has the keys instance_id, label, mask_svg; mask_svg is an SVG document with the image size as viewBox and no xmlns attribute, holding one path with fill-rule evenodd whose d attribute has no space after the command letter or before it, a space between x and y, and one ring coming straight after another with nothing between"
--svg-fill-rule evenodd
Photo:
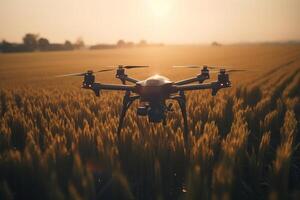
<instances>
[{"instance_id":1,"label":"dark four-rotor drone with camera hovering over the grain","mask_svg":"<svg viewBox=\"0 0 300 200\"><path fill-rule=\"evenodd\" d=\"M123 126L124 118L127 110L135 100L140 101L140 105L136 110L138 116L148 117L149 122L163 123L166 125L166 117L168 112L173 111L173 104L167 105L167 100L174 100L179 104L184 122L184 140L187 143L188 136L188 121L186 111L186 91L191 90L205 90L210 89L211 94L215 96L220 89L231 87L228 72L244 71L244 70L227 70L220 69L215 71L218 73L216 81L210 83L203 83L210 78L210 70L215 67L208 66L173 66L173 67L187 67L187 68L202 68L200 74L195 77L173 82L167 77L161 75L154 75L145 80L137 80L129 77L125 73L125 69L145 68L148 66L133 66L133 65L119 65L114 69L103 69L99 71L88 70L83 73L74 73L60 75L65 76L82 76L82 88L92 90L96 96L100 96L101 90L117 90L125 91L123 97L123 105L119 118L119 125L117 134L120 135ZM107 72L116 70L115 77L121 80L122 84L106 84L95 82L95 73ZM130 84L127 84L129 82Z\"/></svg>"}]
</instances>

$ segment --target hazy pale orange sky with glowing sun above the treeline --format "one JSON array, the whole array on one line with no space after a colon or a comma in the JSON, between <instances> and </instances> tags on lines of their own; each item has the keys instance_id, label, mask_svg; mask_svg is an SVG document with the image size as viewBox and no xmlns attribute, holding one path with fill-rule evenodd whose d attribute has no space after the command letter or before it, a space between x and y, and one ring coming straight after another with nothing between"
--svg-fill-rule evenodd
<instances>
[{"instance_id":1,"label":"hazy pale orange sky with glowing sun above the treeline","mask_svg":"<svg viewBox=\"0 0 300 200\"><path fill-rule=\"evenodd\" d=\"M300 39L300 0L0 0L0 39L224 43Z\"/></svg>"}]
</instances>

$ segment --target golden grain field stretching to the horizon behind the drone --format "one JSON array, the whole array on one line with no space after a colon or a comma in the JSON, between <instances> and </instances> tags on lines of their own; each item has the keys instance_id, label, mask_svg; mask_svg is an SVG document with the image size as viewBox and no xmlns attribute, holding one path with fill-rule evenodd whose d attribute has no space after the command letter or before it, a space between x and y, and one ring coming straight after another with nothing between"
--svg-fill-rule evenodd
<instances>
[{"instance_id":1,"label":"golden grain field stretching to the horizon behind the drone","mask_svg":"<svg viewBox=\"0 0 300 200\"><path fill-rule=\"evenodd\" d=\"M172 81L217 65L232 87L187 92L188 148L176 104L167 125L127 112L123 92L56 75L111 65ZM119 83L115 72L99 82ZM216 75L211 76L211 81ZM299 199L300 45L164 46L0 54L0 199Z\"/></svg>"}]
</instances>

